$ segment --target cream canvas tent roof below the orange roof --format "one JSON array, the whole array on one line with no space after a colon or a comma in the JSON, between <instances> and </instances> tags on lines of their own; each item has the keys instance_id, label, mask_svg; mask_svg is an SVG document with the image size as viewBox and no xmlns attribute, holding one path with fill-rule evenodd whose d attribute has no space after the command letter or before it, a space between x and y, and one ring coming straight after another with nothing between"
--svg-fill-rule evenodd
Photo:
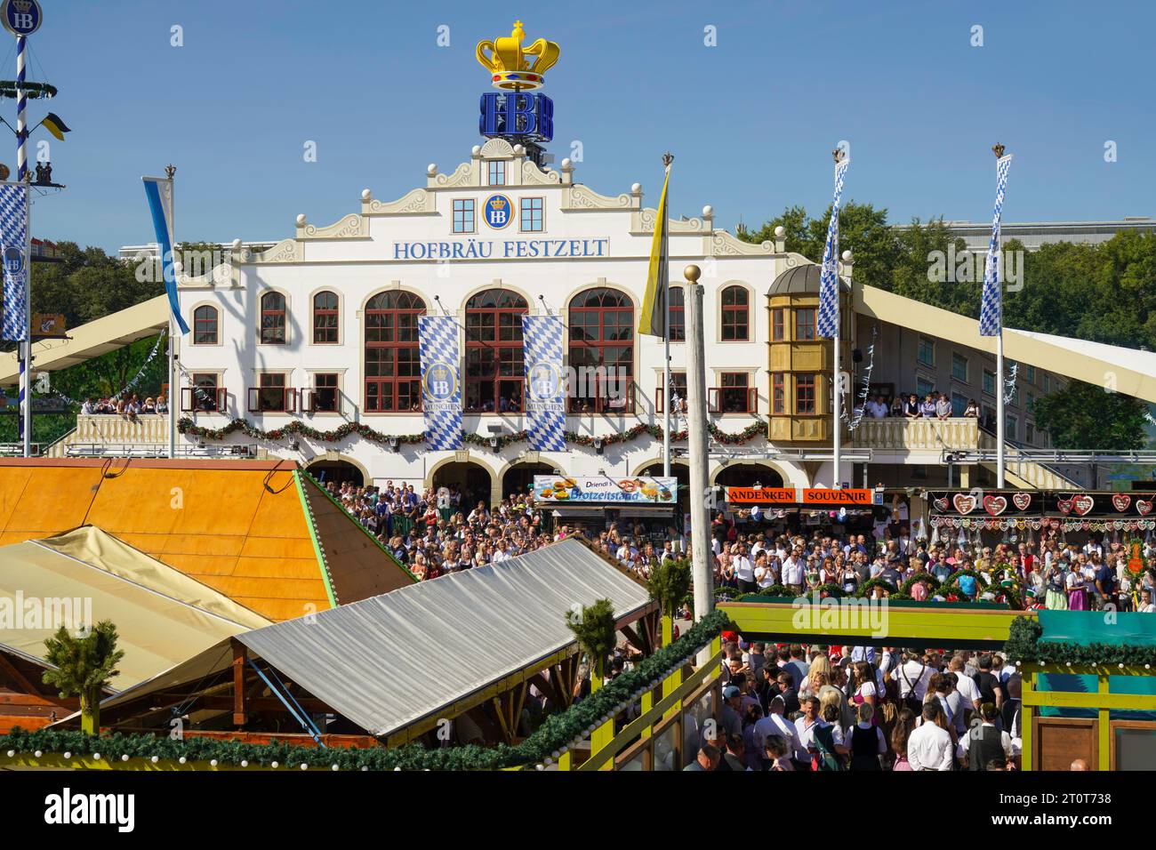
<instances>
[{"instance_id":1,"label":"cream canvas tent roof below the orange roof","mask_svg":"<svg viewBox=\"0 0 1156 850\"><path fill-rule=\"evenodd\" d=\"M117 690L269 623L94 526L0 547L0 620L9 619L0 649L44 663L44 641L60 616L71 616L71 627L116 623L125 652L111 682Z\"/></svg>"}]
</instances>

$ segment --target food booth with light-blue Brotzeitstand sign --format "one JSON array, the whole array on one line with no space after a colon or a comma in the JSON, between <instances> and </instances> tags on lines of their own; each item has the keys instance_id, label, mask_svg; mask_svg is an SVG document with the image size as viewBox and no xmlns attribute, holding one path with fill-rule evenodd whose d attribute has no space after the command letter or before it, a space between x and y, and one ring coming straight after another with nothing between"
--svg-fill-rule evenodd
<instances>
[{"instance_id":1,"label":"food booth with light-blue Brotzeitstand sign","mask_svg":"<svg viewBox=\"0 0 1156 850\"><path fill-rule=\"evenodd\" d=\"M605 531L612 523L658 541L681 530L679 480L639 475L534 475L534 500L554 527Z\"/></svg>"}]
</instances>

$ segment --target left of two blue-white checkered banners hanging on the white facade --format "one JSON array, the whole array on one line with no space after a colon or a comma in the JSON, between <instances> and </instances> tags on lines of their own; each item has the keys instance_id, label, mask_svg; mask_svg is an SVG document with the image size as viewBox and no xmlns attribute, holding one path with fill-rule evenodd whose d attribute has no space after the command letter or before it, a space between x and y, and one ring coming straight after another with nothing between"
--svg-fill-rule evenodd
<instances>
[{"instance_id":1,"label":"left of two blue-white checkered banners hanging on the white facade","mask_svg":"<svg viewBox=\"0 0 1156 850\"><path fill-rule=\"evenodd\" d=\"M420 316L417 343L422 359L422 412L425 444L432 450L461 449L461 369L458 320Z\"/></svg>"}]
</instances>

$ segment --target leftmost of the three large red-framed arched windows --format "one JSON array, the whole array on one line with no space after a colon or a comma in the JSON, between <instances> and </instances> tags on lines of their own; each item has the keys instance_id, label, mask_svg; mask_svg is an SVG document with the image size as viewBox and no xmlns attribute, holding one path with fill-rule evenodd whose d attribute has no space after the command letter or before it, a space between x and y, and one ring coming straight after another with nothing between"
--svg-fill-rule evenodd
<instances>
[{"instance_id":1,"label":"leftmost of the three large red-framed arched windows","mask_svg":"<svg viewBox=\"0 0 1156 850\"><path fill-rule=\"evenodd\" d=\"M379 293L365 304L365 409L420 411L421 354L417 317L425 302L413 293Z\"/></svg>"}]
</instances>

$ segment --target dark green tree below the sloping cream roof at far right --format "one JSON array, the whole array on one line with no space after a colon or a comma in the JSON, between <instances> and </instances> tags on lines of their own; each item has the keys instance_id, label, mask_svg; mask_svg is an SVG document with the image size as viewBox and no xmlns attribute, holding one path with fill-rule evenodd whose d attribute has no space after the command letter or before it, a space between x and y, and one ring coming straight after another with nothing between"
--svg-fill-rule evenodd
<instances>
[{"instance_id":1,"label":"dark green tree below the sloping cream roof at far right","mask_svg":"<svg viewBox=\"0 0 1156 850\"><path fill-rule=\"evenodd\" d=\"M1036 399L1036 427L1057 449L1131 451L1146 443L1148 406L1131 396L1073 380L1059 392Z\"/></svg>"}]
</instances>

